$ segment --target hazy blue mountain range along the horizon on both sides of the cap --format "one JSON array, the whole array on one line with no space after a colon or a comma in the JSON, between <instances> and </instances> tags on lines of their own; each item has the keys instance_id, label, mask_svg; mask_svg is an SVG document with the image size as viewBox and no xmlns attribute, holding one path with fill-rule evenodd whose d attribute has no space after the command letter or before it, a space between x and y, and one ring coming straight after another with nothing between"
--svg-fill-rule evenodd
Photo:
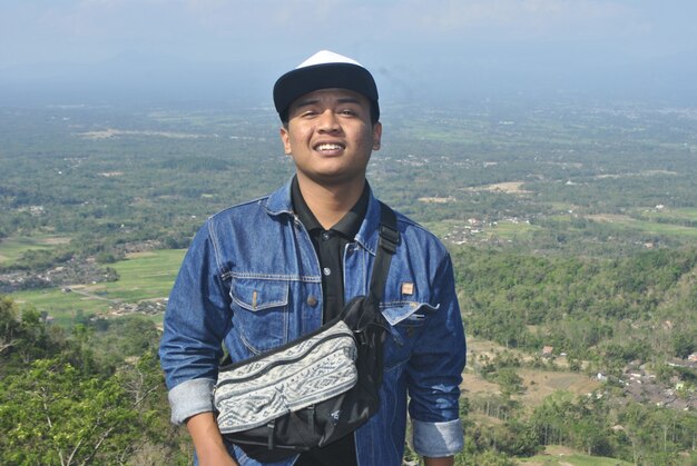
<instances>
[{"instance_id":1,"label":"hazy blue mountain range along the horizon on both sides of the cap","mask_svg":"<svg viewBox=\"0 0 697 466\"><path fill-rule=\"evenodd\" d=\"M454 58L453 58L454 57ZM401 63L390 57L375 67L386 101L452 102L459 98L577 95L600 99L668 100L697 105L697 49L638 60L617 52L470 49ZM47 99L234 100L269 105L277 67L255 61L178 59L125 51L96 63L46 62L0 69L0 102Z\"/></svg>"}]
</instances>

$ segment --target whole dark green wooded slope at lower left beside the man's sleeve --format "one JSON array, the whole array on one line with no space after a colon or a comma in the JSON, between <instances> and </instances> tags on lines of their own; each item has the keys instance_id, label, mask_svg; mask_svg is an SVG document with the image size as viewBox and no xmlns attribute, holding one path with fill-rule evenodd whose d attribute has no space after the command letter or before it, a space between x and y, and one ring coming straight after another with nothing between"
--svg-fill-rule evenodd
<instances>
[{"instance_id":1,"label":"whole dark green wooded slope at lower left beside the man's sleeve","mask_svg":"<svg viewBox=\"0 0 697 466\"><path fill-rule=\"evenodd\" d=\"M65 335L31 309L18 318L2 298L0 326L0 463L187 462L185 440L167 418L150 321L115 320L118 337L108 329L95 337L82 324Z\"/></svg>"}]
</instances>

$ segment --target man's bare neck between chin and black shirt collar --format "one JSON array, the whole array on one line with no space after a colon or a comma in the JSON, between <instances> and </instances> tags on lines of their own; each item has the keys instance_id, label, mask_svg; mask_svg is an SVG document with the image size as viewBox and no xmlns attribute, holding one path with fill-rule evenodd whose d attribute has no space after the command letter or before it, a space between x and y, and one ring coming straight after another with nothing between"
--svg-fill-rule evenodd
<instances>
[{"instance_id":1,"label":"man's bare neck between chin and black shirt collar","mask_svg":"<svg viewBox=\"0 0 697 466\"><path fill-rule=\"evenodd\" d=\"M324 229L338 222L359 201L365 179L352 184L317 185L298 175L297 185L307 207Z\"/></svg>"}]
</instances>

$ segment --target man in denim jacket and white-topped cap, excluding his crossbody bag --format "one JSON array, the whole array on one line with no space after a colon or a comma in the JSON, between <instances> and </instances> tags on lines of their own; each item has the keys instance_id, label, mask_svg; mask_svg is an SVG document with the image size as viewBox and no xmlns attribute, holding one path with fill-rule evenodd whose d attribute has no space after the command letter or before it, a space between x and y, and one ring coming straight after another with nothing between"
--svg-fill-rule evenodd
<instances>
[{"instance_id":1,"label":"man in denim jacket and white-topped cap, excluding his crossbody bag","mask_svg":"<svg viewBox=\"0 0 697 466\"><path fill-rule=\"evenodd\" d=\"M215 423L220 343L239 361L318 328L366 294L375 259L380 205L365 180L382 136L373 77L321 51L277 80L274 102L295 176L207 220L165 316L160 358L171 417L186 423L199 464L257 464L226 445ZM390 333L379 412L353 435L278 464L400 465L408 409L414 449L428 465L452 464L462 447L465 346L450 256L399 214L397 229L381 303Z\"/></svg>"}]
</instances>

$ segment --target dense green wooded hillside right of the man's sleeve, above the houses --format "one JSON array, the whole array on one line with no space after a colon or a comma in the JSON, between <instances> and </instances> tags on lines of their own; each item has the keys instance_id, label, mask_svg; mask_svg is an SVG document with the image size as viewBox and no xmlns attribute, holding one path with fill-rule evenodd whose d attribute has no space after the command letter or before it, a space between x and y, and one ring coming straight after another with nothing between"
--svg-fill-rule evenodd
<instances>
[{"instance_id":1,"label":"dense green wooded hillside right of the man's sleeve, above the houses","mask_svg":"<svg viewBox=\"0 0 697 466\"><path fill-rule=\"evenodd\" d=\"M606 367L696 348L691 295L683 290L697 248L598 259L470 247L453 250L453 260L472 336L534 353L549 345Z\"/></svg>"}]
</instances>

